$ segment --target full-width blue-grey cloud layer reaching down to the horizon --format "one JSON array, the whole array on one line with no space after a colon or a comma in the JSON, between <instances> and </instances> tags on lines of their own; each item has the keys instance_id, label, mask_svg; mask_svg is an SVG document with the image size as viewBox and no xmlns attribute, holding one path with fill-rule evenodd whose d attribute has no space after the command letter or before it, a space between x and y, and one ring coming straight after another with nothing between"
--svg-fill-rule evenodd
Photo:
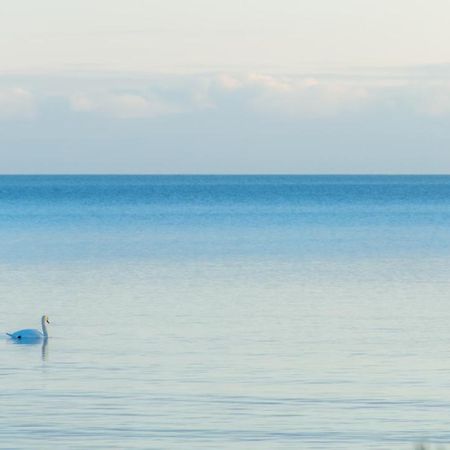
<instances>
[{"instance_id":1,"label":"full-width blue-grey cloud layer reaching down to the horizon","mask_svg":"<svg viewBox=\"0 0 450 450\"><path fill-rule=\"evenodd\" d=\"M446 72L4 75L1 172L449 172Z\"/></svg>"}]
</instances>

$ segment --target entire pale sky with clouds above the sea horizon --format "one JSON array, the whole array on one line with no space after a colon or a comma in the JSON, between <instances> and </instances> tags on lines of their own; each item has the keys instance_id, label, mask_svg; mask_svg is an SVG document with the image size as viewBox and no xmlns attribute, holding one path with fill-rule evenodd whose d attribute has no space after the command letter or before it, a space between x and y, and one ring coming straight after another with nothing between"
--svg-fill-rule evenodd
<instances>
[{"instance_id":1,"label":"entire pale sky with clouds above the sea horizon","mask_svg":"<svg viewBox=\"0 0 450 450\"><path fill-rule=\"evenodd\" d=\"M448 0L0 4L0 173L449 173Z\"/></svg>"}]
</instances>

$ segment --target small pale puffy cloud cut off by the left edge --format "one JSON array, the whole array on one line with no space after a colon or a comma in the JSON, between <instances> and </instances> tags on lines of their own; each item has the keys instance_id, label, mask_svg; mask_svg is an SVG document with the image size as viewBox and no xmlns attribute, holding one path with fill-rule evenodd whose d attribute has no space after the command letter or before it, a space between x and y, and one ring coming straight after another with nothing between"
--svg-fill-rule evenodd
<instances>
[{"instance_id":1,"label":"small pale puffy cloud cut off by the left edge","mask_svg":"<svg viewBox=\"0 0 450 450\"><path fill-rule=\"evenodd\" d=\"M17 87L0 89L0 119L23 119L35 115L34 96Z\"/></svg>"}]
</instances>

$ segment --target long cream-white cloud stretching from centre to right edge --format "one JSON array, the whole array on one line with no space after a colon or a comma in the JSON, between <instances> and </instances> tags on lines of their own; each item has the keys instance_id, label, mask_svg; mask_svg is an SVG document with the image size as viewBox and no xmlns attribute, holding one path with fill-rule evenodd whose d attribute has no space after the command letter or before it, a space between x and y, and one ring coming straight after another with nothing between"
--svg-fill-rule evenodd
<instances>
[{"instance_id":1,"label":"long cream-white cloud stretching from centre to right edge","mask_svg":"<svg viewBox=\"0 0 450 450\"><path fill-rule=\"evenodd\" d=\"M434 78L417 79L414 72L381 76L283 76L251 73L219 75L211 92L212 102L220 98L240 99L240 107L256 114L285 119L337 117L385 111L423 117L450 115L450 82Z\"/></svg>"}]
</instances>

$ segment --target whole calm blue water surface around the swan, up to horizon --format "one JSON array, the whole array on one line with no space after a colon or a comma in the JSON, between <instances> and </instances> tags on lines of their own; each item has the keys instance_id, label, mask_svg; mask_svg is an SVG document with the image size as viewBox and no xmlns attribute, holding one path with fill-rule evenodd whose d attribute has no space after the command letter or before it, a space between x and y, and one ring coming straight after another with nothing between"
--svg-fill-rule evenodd
<instances>
[{"instance_id":1,"label":"whole calm blue water surface around the swan, up to horizon","mask_svg":"<svg viewBox=\"0 0 450 450\"><path fill-rule=\"evenodd\" d=\"M450 177L4 176L0 238L0 448L450 443Z\"/></svg>"}]
</instances>

